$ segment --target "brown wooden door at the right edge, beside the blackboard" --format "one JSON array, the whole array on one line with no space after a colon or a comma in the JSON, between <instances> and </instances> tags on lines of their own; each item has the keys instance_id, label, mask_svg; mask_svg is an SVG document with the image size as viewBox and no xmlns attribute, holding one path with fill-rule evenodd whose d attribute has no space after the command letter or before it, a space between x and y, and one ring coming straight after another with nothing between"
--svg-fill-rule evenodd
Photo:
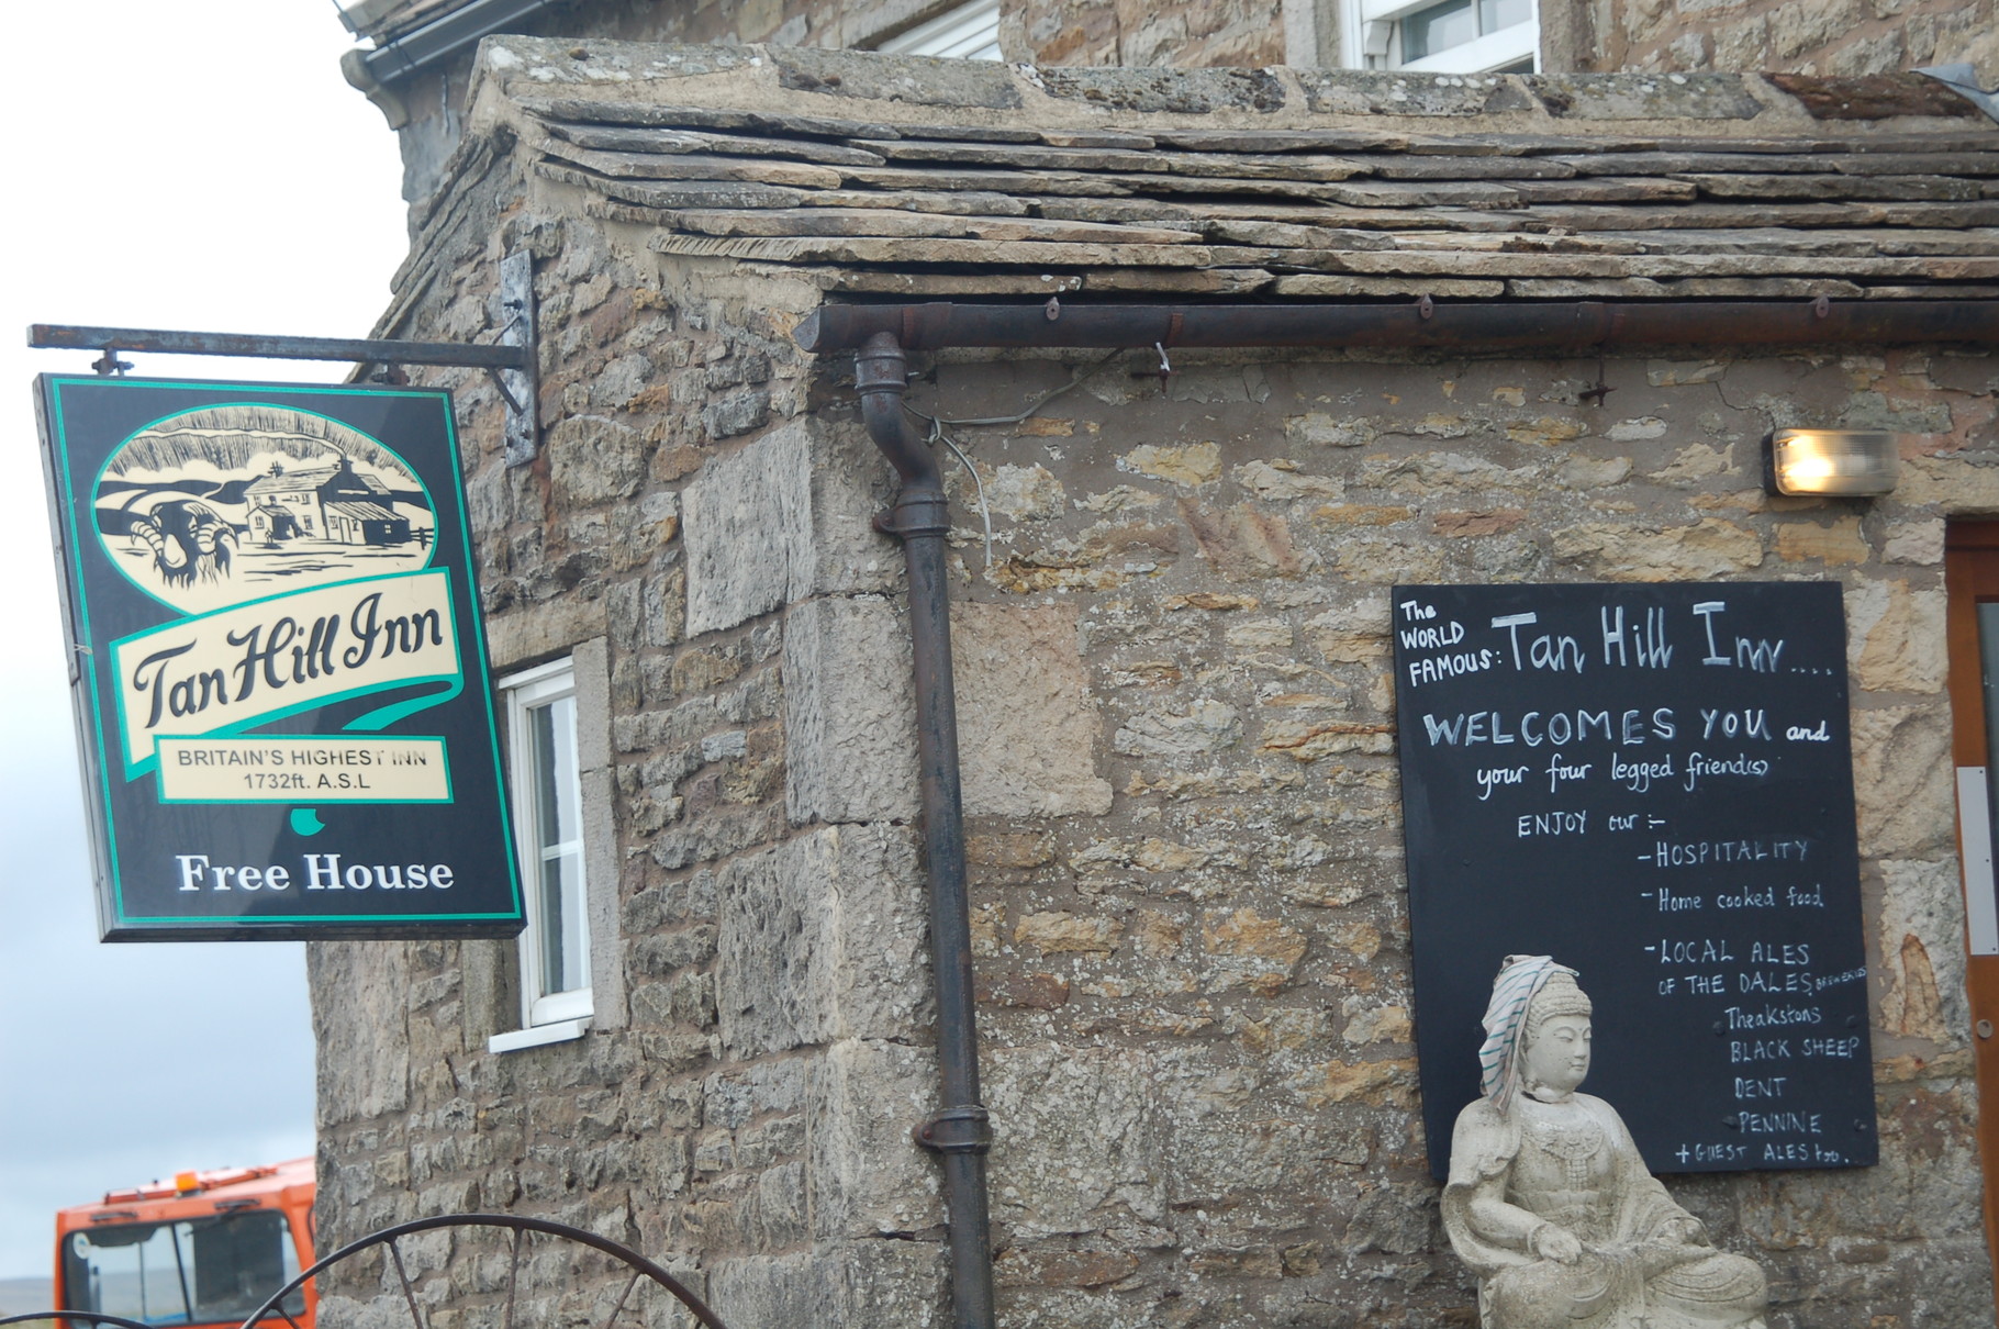
<instances>
[{"instance_id":1,"label":"brown wooden door at the right edge, beside the blackboard","mask_svg":"<svg viewBox=\"0 0 1999 1329\"><path fill-rule=\"evenodd\" d=\"M1965 877L1965 965L1971 1047L1985 1159L1985 1241L1999 1267L1999 899L1993 889L1993 785L1999 785L1999 522L1953 522L1945 538L1949 590L1951 755L1957 765L1957 847Z\"/></svg>"}]
</instances>

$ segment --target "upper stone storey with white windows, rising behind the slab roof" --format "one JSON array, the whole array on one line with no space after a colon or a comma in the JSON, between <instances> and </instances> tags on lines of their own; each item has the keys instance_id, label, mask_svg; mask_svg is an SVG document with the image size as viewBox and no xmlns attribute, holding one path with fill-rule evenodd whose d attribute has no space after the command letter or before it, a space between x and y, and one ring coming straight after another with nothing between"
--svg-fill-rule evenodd
<instances>
[{"instance_id":1,"label":"upper stone storey with white windows, rising behind the slab roof","mask_svg":"<svg viewBox=\"0 0 1999 1329\"><path fill-rule=\"evenodd\" d=\"M490 32L768 42L1039 66L1413 74L1999 68L1999 0L352 0L348 78L402 130L412 204Z\"/></svg>"}]
</instances>

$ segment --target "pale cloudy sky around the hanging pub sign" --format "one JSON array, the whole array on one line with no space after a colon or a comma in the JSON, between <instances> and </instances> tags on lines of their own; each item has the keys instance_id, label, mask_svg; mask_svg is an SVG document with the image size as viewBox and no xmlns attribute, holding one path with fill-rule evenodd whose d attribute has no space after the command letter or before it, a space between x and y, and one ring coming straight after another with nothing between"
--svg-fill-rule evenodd
<instances>
[{"instance_id":1,"label":"pale cloudy sky around the hanging pub sign","mask_svg":"<svg viewBox=\"0 0 1999 1329\"><path fill-rule=\"evenodd\" d=\"M0 1277L54 1211L312 1151L304 947L100 945L30 380L94 354L26 326L366 336L404 256L396 138L340 76L330 0L8 6L0 214ZM142 376L346 366L132 356ZM8 400L12 394L12 400Z\"/></svg>"}]
</instances>

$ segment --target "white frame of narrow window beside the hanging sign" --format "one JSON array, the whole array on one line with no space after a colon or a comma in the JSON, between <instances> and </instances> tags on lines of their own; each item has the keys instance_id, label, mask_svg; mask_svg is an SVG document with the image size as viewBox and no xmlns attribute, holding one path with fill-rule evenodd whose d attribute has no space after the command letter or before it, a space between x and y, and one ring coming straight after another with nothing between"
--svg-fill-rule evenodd
<instances>
[{"instance_id":1,"label":"white frame of narrow window beside the hanging sign","mask_svg":"<svg viewBox=\"0 0 1999 1329\"><path fill-rule=\"evenodd\" d=\"M568 895L574 897L572 907L564 913L572 927L582 931L582 971L584 981L580 987L568 991L542 991L542 933L546 923L542 921L542 845L536 843L536 827L540 825L540 781L530 771L528 763L534 761L534 719L532 713L540 707L560 701L564 697L576 699L576 664L574 660L556 660L534 669L522 669L520 673L510 673L500 679L500 695L506 699L506 725L508 725L508 767L512 771L512 811L514 811L514 847L516 861L520 863L522 875L522 895L526 903L528 927L520 933L520 1019L522 1027L496 1033L488 1039L488 1051L514 1051L518 1047L538 1047L542 1043L556 1043L564 1039L582 1037L590 1029L592 1015L596 1013L596 1001L592 993L592 937L590 937L590 881L588 881L588 859L586 833L584 833L584 789L582 789L582 747L580 733L572 733L570 741L576 745L578 759L570 769L570 787L558 791L574 799L576 805L576 841L564 841L558 849L572 851L578 863L576 879L570 883ZM582 725L580 707L572 707L572 715Z\"/></svg>"}]
</instances>

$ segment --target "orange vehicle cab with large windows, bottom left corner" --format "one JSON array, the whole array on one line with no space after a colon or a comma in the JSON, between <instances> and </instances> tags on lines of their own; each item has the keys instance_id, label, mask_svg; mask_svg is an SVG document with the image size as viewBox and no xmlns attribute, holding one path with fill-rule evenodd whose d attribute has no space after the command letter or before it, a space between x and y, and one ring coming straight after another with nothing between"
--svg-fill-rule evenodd
<instances>
[{"instance_id":1,"label":"orange vehicle cab with large windows, bottom left corner","mask_svg":"<svg viewBox=\"0 0 1999 1329\"><path fill-rule=\"evenodd\" d=\"M56 1211L56 1307L234 1329L312 1265L312 1159L180 1173ZM306 1283L266 1321L312 1329ZM86 1329L86 1321L70 1321Z\"/></svg>"}]
</instances>

